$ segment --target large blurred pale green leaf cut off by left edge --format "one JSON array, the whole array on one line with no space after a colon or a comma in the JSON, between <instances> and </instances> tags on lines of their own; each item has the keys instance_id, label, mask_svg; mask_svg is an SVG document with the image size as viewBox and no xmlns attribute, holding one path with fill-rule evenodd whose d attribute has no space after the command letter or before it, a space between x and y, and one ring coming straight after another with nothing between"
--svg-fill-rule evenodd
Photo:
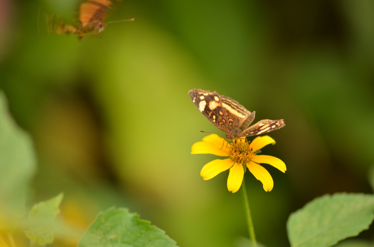
<instances>
[{"instance_id":1,"label":"large blurred pale green leaf cut off by left edge","mask_svg":"<svg viewBox=\"0 0 374 247\"><path fill-rule=\"evenodd\" d=\"M14 229L25 214L25 200L36 169L30 136L10 116L0 91L0 229Z\"/></svg>"}]
</instances>

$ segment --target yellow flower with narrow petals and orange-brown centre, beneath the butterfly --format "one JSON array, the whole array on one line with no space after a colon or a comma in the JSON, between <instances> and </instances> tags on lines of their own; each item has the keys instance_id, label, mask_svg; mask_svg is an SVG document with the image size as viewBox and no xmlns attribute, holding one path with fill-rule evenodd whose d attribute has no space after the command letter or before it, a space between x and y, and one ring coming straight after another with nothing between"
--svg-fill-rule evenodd
<instances>
[{"instance_id":1,"label":"yellow flower with narrow petals and orange-brown centre, beneath the butterfly","mask_svg":"<svg viewBox=\"0 0 374 247\"><path fill-rule=\"evenodd\" d=\"M208 180L230 168L227 189L232 193L238 191L242 185L243 166L246 166L255 178L262 182L265 191L271 191L274 185L272 176L259 164L272 165L283 173L286 171L286 165L276 157L257 155L259 150L268 144L275 144L274 139L268 135L256 137L251 143L244 138L237 139L230 144L218 135L212 134L204 137L203 141L193 144L191 154L209 153L227 157L224 160L217 159L209 162L201 169L200 175L204 180Z\"/></svg>"}]
</instances>

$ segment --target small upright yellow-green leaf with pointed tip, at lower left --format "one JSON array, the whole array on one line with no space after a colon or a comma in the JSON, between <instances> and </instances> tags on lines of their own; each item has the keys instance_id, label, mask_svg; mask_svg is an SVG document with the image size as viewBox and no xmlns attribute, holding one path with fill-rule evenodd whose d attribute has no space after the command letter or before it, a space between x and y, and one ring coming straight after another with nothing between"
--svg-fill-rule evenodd
<instances>
[{"instance_id":1,"label":"small upright yellow-green leaf with pointed tip, at lower left","mask_svg":"<svg viewBox=\"0 0 374 247\"><path fill-rule=\"evenodd\" d=\"M36 204L31 209L28 215L30 231L25 231L26 237L31 241L31 246L44 246L53 243L54 219L60 212L59 205L63 196L61 193L50 200Z\"/></svg>"}]
</instances>

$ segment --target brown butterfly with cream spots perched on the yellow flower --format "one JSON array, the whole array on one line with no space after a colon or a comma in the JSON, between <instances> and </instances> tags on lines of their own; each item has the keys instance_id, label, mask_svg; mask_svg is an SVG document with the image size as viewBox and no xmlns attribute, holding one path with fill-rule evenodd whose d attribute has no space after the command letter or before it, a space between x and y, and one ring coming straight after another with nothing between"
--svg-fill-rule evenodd
<instances>
[{"instance_id":1,"label":"brown butterfly with cream spots perched on the yellow flower","mask_svg":"<svg viewBox=\"0 0 374 247\"><path fill-rule=\"evenodd\" d=\"M188 92L197 109L218 129L227 133L226 140L236 137L248 137L275 131L285 126L283 119L264 119L249 126L255 111L250 112L237 101L219 95L216 91L193 89Z\"/></svg>"}]
</instances>

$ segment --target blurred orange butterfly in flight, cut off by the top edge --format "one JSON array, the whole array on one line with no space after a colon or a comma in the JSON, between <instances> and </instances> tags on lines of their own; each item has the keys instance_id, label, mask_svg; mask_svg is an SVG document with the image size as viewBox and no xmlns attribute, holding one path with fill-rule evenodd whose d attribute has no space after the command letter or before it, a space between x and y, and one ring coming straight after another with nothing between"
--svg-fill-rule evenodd
<instances>
[{"instance_id":1,"label":"blurred orange butterfly in flight, cut off by the top edge","mask_svg":"<svg viewBox=\"0 0 374 247\"><path fill-rule=\"evenodd\" d=\"M49 33L56 34L76 34L81 40L82 38L92 34L96 37L102 34L102 31L109 23L121 21L134 21L134 19L111 21L104 23L112 2L110 0L86 0L79 6L79 16L76 24L70 24L64 19L54 15L47 15L47 26Z\"/></svg>"}]
</instances>

